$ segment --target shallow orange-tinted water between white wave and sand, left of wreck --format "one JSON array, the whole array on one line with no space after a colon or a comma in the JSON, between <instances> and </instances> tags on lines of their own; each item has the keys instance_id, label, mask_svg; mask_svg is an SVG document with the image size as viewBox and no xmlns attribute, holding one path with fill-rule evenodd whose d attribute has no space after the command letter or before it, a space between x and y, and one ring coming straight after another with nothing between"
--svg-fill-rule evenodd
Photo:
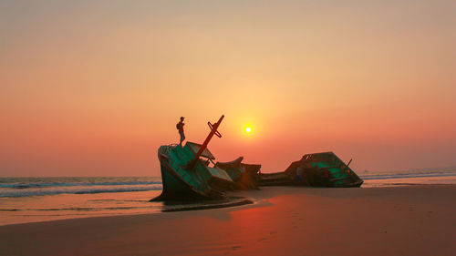
<instances>
[{"instance_id":1,"label":"shallow orange-tinted water between white wave and sand, left of wreck","mask_svg":"<svg viewBox=\"0 0 456 256\"><path fill-rule=\"evenodd\" d=\"M159 190L0 198L0 225L161 212Z\"/></svg>"}]
</instances>

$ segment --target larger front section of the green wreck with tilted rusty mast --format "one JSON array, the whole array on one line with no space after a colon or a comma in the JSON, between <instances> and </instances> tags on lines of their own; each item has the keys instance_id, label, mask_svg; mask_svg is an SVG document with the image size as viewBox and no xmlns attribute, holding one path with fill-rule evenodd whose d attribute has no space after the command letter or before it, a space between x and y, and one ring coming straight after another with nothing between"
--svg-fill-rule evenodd
<instances>
[{"instance_id":1,"label":"larger front section of the green wreck with tilted rusty mast","mask_svg":"<svg viewBox=\"0 0 456 256\"><path fill-rule=\"evenodd\" d=\"M214 162L207 148L215 135L222 116L216 123L208 122L211 131L202 144L187 141L184 147L165 145L159 148L163 190L153 200L208 200L221 199L225 191L257 188L261 165L244 164L243 158L231 162Z\"/></svg>"}]
</instances>

